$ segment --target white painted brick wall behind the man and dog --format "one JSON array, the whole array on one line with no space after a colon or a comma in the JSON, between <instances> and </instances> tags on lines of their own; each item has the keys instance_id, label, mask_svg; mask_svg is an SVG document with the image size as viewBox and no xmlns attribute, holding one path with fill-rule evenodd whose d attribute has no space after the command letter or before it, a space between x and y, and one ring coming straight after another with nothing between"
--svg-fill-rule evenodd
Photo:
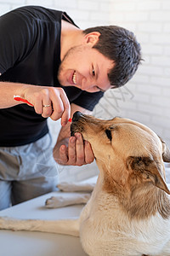
<instances>
[{"instance_id":1,"label":"white painted brick wall behind the man and dog","mask_svg":"<svg viewBox=\"0 0 170 256\"><path fill-rule=\"evenodd\" d=\"M111 90L94 109L94 115L119 115L150 126L170 146L170 2L169 0L0 0L0 15L22 5L63 9L82 29L115 24L135 32L143 51L143 64L121 90ZM54 140L59 131L49 119ZM95 163L59 168L61 180L93 176Z\"/></svg>"}]
</instances>

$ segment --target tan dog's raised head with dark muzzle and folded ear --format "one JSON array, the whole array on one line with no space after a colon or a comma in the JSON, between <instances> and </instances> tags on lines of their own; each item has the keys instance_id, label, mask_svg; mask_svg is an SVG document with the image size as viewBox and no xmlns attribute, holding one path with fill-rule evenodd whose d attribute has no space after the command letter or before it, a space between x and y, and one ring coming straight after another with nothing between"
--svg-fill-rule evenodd
<instances>
[{"instance_id":1,"label":"tan dog's raised head with dark muzzle and folded ear","mask_svg":"<svg viewBox=\"0 0 170 256\"><path fill-rule=\"evenodd\" d=\"M170 151L147 126L131 119L101 120L77 112L71 135L75 132L81 132L91 143L99 169L111 188L113 183L130 190L137 184L150 184L170 194L163 164L170 162Z\"/></svg>"}]
</instances>

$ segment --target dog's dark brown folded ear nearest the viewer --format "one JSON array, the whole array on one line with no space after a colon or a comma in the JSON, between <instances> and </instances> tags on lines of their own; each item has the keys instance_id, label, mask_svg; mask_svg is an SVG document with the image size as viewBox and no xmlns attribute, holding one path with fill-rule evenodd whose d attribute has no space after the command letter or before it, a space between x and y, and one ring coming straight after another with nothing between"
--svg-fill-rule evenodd
<instances>
[{"instance_id":1,"label":"dog's dark brown folded ear nearest the viewer","mask_svg":"<svg viewBox=\"0 0 170 256\"><path fill-rule=\"evenodd\" d=\"M131 168L134 175L140 177L143 182L153 183L157 188L170 195L167 184L159 172L160 167L150 157L129 156L127 158L127 168Z\"/></svg>"}]
</instances>

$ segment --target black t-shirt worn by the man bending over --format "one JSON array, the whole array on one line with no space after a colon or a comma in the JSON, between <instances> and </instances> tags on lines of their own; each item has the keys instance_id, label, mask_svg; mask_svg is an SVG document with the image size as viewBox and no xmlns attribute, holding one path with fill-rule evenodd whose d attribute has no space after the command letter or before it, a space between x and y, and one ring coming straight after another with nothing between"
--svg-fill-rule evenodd
<instances>
[{"instance_id":1,"label":"black t-shirt worn by the man bending over","mask_svg":"<svg viewBox=\"0 0 170 256\"><path fill-rule=\"evenodd\" d=\"M61 86L61 20L75 23L62 11L26 6L0 17L0 81L62 87L69 101L93 110L102 92L89 93ZM76 25L75 25L76 26ZM48 133L47 119L34 108L20 104L0 109L0 146L35 142Z\"/></svg>"}]
</instances>

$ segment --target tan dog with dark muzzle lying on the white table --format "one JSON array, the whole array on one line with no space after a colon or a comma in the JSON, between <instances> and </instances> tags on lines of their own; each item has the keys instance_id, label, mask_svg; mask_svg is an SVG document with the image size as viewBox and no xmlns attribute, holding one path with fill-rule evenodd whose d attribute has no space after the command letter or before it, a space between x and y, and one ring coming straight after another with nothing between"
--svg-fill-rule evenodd
<instances>
[{"instance_id":1,"label":"tan dog with dark muzzle lying on the white table","mask_svg":"<svg viewBox=\"0 0 170 256\"><path fill-rule=\"evenodd\" d=\"M80 218L0 218L0 228L80 236L90 256L169 256L170 191L163 161L170 162L170 151L166 143L131 119L101 120L79 112L71 123L71 136L75 132L91 143L99 167Z\"/></svg>"}]
</instances>

